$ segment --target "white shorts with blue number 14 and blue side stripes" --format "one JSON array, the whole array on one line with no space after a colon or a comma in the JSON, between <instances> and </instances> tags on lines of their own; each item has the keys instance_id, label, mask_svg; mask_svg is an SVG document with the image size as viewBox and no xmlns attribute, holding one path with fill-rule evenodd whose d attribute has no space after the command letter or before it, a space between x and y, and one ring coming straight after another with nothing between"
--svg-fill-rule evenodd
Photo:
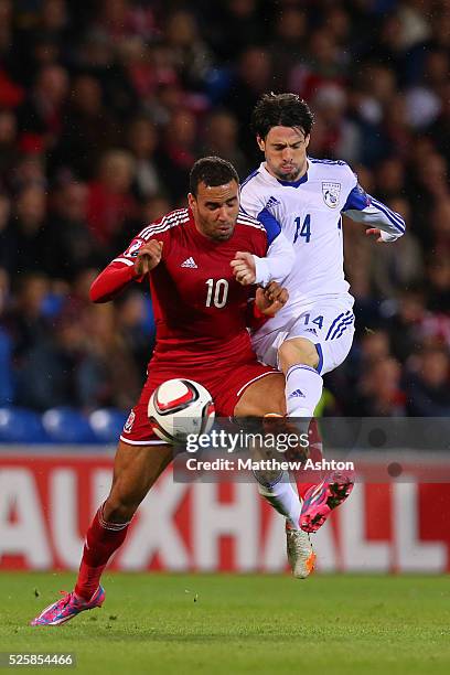
<instances>
[{"instance_id":1,"label":"white shorts with blue number 14 and blue side stripes","mask_svg":"<svg viewBox=\"0 0 450 675\"><path fill-rule=\"evenodd\" d=\"M278 350L280 345L286 340L306 338L315 345L318 351L318 373L324 375L334 371L345 361L352 347L355 332L355 315L352 307L353 298L347 296L343 299L328 299L309 306L303 304L283 325L279 325L277 317L270 319L251 336L251 344L258 361L279 367Z\"/></svg>"}]
</instances>

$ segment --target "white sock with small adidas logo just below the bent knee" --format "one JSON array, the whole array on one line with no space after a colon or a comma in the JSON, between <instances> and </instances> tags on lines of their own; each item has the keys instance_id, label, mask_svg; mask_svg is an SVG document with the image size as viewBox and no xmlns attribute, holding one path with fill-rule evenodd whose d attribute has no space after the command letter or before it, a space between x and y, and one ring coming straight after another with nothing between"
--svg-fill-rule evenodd
<instances>
[{"instance_id":1,"label":"white sock with small adidas logo just below the bent knee","mask_svg":"<svg viewBox=\"0 0 450 675\"><path fill-rule=\"evenodd\" d=\"M323 379L307 365L293 365L286 373L286 405L288 417L312 417L322 396Z\"/></svg>"}]
</instances>

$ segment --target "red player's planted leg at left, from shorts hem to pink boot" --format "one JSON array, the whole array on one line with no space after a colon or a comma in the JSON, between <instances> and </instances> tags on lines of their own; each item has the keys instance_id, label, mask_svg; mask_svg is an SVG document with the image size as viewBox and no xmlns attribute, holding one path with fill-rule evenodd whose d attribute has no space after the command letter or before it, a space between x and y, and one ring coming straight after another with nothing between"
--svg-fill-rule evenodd
<instances>
[{"instance_id":1,"label":"red player's planted leg at left, from shorts hem to pink boot","mask_svg":"<svg viewBox=\"0 0 450 675\"><path fill-rule=\"evenodd\" d=\"M101 574L121 546L139 504L172 459L170 446L129 446L119 442L113 486L86 534L75 589L46 607L31 625L61 625L79 612L101 607Z\"/></svg>"}]
</instances>

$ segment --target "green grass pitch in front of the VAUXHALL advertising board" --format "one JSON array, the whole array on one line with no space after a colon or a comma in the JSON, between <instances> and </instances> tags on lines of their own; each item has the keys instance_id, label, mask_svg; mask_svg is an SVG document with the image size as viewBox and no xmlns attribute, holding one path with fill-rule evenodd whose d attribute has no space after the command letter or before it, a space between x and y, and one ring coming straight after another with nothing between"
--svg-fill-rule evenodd
<instances>
[{"instance_id":1,"label":"green grass pitch in front of the VAUXHALL advertising board","mask_svg":"<svg viewBox=\"0 0 450 675\"><path fill-rule=\"evenodd\" d=\"M100 610L29 626L73 579L0 572L0 651L74 652L88 675L450 673L448 577L110 574Z\"/></svg>"}]
</instances>

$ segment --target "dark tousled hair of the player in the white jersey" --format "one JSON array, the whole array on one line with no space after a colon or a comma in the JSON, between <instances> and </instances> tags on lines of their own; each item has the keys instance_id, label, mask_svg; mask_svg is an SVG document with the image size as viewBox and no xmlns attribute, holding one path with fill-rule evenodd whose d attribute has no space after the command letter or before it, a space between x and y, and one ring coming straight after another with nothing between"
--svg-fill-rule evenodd
<instances>
[{"instance_id":1,"label":"dark tousled hair of the player in the white jersey","mask_svg":"<svg viewBox=\"0 0 450 675\"><path fill-rule=\"evenodd\" d=\"M262 139L272 127L300 127L309 136L313 124L307 101L297 94L265 94L251 115L251 129Z\"/></svg>"}]
</instances>

